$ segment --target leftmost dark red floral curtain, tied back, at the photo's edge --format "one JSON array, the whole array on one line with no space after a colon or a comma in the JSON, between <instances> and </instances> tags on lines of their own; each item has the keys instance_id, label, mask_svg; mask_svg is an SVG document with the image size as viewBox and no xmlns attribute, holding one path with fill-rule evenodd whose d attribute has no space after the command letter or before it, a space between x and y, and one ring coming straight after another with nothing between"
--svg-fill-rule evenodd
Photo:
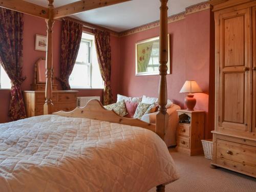
<instances>
[{"instance_id":1,"label":"leftmost dark red floral curtain, tied back, at the photo's edge","mask_svg":"<svg viewBox=\"0 0 256 192\"><path fill-rule=\"evenodd\" d=\"M0 63L11 79L11 120L26 118L25 105L20 88L23 65L23 14L0 8Z\"/></svg>"}]
</instances>

